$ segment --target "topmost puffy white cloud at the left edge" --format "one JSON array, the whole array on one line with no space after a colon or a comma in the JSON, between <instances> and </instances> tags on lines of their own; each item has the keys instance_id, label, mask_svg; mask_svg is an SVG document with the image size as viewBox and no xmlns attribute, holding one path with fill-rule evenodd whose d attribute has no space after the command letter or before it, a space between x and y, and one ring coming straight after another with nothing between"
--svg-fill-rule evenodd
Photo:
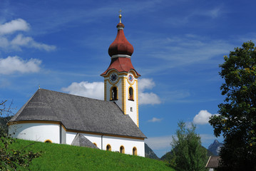
<instances>
[{"instance_id":1,"label":"topmost puffy white cloud at the left edge","mask_svg":"<svg viewBox=\"0 0 256 171\"><path fill-rule=\"evenodd\" d=\"M28 31L29 24L23 19L12 20L9 23L0 24L0 34L14 33L15 31Z\"/></svg>"}]
</instances>

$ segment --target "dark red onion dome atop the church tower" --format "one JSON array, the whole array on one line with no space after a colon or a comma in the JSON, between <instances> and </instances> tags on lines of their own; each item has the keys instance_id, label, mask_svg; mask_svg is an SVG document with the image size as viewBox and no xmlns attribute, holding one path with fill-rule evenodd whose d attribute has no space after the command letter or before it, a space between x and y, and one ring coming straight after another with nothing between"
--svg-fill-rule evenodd
<instances>
[{"instance_id":1,"label":"dark red onion dome atop the church tower","mask_svg":"<svg viewBox=\"0 0 256 171\"><path fill-rule=\"evenodd\" d=\"M123 33L123 28L125 27L122 23L119 23L117 26L118 34L115 41L111 43L111 46L108 48L109 56L114 55L128 55L133 54L133 46L126 40L126 36Z\"/></svg>"}]
</instances>

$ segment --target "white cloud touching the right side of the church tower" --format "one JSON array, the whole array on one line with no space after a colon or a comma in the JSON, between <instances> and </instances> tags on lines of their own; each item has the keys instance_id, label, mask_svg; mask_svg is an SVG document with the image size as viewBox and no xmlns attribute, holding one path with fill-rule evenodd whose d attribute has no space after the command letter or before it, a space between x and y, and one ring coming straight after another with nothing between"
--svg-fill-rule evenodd
<instances>
[{"instance_id":1,"label":"white cloud touching the right side of the church tower","mask_svg":"<svg viewBox=\"0 0 256 171\"><path fill-rule=\"evenodd\" d=\"M152 89L155 86L153 79L142 78L138 80L138 103L140 105L160 104L161 100L155 93L146 93L146 89Z\"/></svg>"}]
</instances>

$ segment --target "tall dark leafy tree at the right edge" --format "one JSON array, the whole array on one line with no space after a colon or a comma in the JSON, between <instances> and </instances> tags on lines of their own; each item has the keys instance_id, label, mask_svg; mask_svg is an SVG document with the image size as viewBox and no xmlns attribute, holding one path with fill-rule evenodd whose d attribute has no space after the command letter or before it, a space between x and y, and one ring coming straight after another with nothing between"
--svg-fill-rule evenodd
<instances>
[{"instance_id":1,"label":"tall dark leafy tree at the right edge","mask_svg":"<svg viewBox=\"0 0 256 171\"><path fill-rule=\"evenodd\" d=\"M224 103L210 118L215 136L223 135L219 170L256 170L256 48L252 41L230 51L220 65Z\"/></svg>"}]
</instances>

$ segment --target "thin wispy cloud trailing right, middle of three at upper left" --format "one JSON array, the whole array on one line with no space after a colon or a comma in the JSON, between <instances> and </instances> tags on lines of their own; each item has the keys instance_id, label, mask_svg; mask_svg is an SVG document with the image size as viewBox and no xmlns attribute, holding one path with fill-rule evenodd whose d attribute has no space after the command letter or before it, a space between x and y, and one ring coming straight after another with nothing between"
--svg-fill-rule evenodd
<instances>
[{"instance_id":1,"label":"thin wispy cloud trailing right, middle of three at upper left","mask_svg":"<svg viewBox=\"0 0 256 171\"><path fill-rule=\"evenodd\" d=\"M11 46L26 46L29 48L38 48L40 50L45 50L45 51L53 51L56 49L56 46L50 46L46 45L44 43L38 43L34 41L33 38L31 37L25 37L22 34L17 35L12 41L11 41Z\"/></svg>"}]
</instances>

